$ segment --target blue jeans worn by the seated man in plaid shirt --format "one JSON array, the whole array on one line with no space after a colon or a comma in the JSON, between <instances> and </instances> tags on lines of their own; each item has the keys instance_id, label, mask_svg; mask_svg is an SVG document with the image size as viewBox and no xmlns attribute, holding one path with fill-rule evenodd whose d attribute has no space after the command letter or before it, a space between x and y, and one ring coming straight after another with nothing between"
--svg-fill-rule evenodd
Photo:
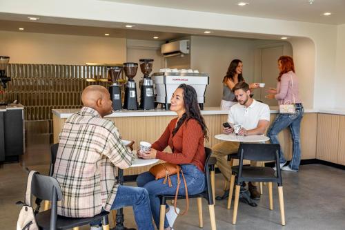
<instances>
[{"instance_id":1,"label":"blue jeans worn by the seated man in plaid shirt","mask_svg":"<svg viewBox=\"0 0 345 230\"><path fill-rule=\"evenodd\" d=\"M133 207L135 222L139 230L155 230L152 223L148 191L146 189L120 185L111 209L119 209L126 206ZM101 220L90 223L90 225L97 224L101 224Z\"/></svg>"}]
</instances>

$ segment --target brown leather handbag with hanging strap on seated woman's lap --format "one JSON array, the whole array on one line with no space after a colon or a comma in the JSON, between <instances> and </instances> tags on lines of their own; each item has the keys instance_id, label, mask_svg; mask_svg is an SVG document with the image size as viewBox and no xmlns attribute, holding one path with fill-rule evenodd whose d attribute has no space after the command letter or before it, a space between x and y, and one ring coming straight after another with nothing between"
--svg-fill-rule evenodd
<instances>
[{"instance_id":1,"label":"brown leather handbag with hanging strap on seated woman's lap","mask_svg":"<svg viewBox=\"0 0 345 230\"><path fill-rule=\"evenodd\" d=\"M181 166L179 166L178 164L172 164L172 163L167 163L167 162L152 166L150 169L150 173L155 176L156 180L164 178L163 184L166 184L166 182L168 182L169 187L172 186L170 176L177 174L177 189L175 193L174 209L177 215L184 215L188 212L188 208L189 208L188 188L187 188L187 183L186 183L185 178L184 178L184 187L186 188L186 209L181 214L177 213L176 211L177 195L179 195L179 184L181 184L181 179L179 178L180 171L182 174L182 178L184 178L184 172L182 171Z\"/></svg>"}]
</instances>

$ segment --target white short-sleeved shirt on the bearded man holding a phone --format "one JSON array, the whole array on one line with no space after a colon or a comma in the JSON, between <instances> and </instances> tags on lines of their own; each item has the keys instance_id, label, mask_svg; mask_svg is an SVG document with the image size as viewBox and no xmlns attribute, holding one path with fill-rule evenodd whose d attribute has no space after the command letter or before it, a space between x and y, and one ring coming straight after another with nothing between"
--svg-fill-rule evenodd
<instances>
[{"instance_id":1,"label":"white short-sleeved shirt on the bearded man holding a phone","mask_svg":"<svg viewBox=\"0 0 345 230\"><path fill-rule=\"evenodd\" d=\"M270 121L270 108L267 104L257 102L247 108L237 103L230 108L228 122L231 124L240 124L246 130L257 128L260 119Z\"/></svg>"}]
</instances>

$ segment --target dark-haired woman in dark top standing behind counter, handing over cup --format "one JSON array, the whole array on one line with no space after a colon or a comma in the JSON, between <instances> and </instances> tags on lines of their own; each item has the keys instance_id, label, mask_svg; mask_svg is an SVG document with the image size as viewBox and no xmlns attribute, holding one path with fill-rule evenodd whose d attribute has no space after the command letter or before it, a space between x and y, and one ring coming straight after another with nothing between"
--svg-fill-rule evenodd
<instances>
[{"instance_id":1,"label":"dark-haired woman in dark top standing behind counter, handing over cup","mask_svg":"<svg viewBox=\"0 0 345 230\"><path fill-rule=\"evenodd\" d=\"M233 93L233 88L238 82L245 82L242 76L242 61L239 59L233 59L230 62L228 71L223 79L223 97L221 97L220 107L221 110L228 111L230 107L237 104L235 99L235 94ZM259 84L252 83L249 88L257 88Z\"/></svg>"}]
</instances>

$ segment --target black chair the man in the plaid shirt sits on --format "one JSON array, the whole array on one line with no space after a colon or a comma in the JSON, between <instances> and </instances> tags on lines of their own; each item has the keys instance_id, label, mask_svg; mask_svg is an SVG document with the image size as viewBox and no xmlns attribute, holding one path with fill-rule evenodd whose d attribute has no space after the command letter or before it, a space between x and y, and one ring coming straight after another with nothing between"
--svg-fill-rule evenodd
<instances>
[{"instance_id":1,"label":"black chair the man in the plaid shirt sits on","mask_svg":"<svg viewBox=\"0 0 345 230\"><path fill-rule=\"evenodd\" d=\"M108 219L105 218L108 215L107 211L92 218L67 218L57 215L57 201L62 199L62 191L55 178L35 173L32 177L31 193L36 198L49 200L52 204L50 210L42 211L36 215L36 221L41 230L72 229L102 218L103 230L109 230Z\"/></svg>"}]
</instances>

